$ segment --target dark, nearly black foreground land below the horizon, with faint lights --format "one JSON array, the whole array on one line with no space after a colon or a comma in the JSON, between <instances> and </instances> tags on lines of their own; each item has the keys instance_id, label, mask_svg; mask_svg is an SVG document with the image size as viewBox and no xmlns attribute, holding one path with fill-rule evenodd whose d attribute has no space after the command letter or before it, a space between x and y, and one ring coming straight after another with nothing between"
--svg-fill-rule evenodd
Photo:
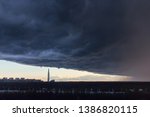
<instances>
[{"instance_id":1,"label":"dark, nearly black foreground land below the horizon, with faint lights","mask_svg":"<svg viewBox=\"0 0 150 117\"><path fill-rule=\"evenodd\" d=\"M0 82L4 100L147 100L150 82Z\"/></svg>"}]
</instances>

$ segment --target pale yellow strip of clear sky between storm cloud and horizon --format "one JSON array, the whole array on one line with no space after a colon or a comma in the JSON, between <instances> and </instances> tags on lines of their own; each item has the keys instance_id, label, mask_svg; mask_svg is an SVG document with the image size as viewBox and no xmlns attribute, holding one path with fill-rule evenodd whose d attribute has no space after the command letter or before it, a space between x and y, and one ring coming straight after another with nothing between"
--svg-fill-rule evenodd
<instances>
[{"instance_id":1,"label":"pale yellow strip of clear sky between storm cloud and horizon","mask_svg":"<svg viewBox=\"0 0 150 117\"><path fill-rule=\"evenodd\" d=\"M0 60L0 78L28 78L47 80L47 70L50 68L52 80L56 81L128 81L129 77L119 75L95 74L87 71L79 71L54 67L39 67Z\"/></svg>"}]
</instances>

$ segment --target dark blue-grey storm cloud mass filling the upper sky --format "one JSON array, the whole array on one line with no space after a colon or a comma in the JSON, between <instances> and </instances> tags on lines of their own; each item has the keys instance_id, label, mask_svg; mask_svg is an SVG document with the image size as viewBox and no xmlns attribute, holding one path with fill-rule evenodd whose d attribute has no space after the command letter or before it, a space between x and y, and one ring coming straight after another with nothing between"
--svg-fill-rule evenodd
<instances>
[{"instance_id":1,"label":"dark blue-grey storm cloud mass filling the upper sky","mask_svg":"<svg viewBox=\"0 0 150 117\"><path fill-rule=\"evenodd\" d=\"M0 58L134 75L141 64L150 68L149 6L148 0L0 0Z\"/></svg>"}]
</instances>

